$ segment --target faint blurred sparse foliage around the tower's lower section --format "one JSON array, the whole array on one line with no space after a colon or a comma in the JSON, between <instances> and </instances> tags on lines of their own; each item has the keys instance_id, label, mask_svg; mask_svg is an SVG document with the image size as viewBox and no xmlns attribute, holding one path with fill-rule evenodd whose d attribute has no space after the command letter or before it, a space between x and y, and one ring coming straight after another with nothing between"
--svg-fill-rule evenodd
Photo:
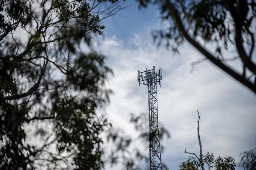
<instances>
[{"instance_id":1,"label":"faint blurred sparse foliage around the tower's lower section","mask_svg":"<svg viewBox=\"0 0 256 170\"><path fill-rule=\"evenodd\" d=\"M149 168L148 115L146 113L130 114L130 123L135 127L136 133L133 133L135 137L130 137L121 129L111 130L108 133L107 140L114 144L111 148L109 162L112 166L121 163L126 170L146 170ZM165 137L169 138L170 134L159 122L159 138ZM161 151L163 149L163 145L161 145ZM163 167L166 165L163 164Z\"/></svg>"}]
</instances>

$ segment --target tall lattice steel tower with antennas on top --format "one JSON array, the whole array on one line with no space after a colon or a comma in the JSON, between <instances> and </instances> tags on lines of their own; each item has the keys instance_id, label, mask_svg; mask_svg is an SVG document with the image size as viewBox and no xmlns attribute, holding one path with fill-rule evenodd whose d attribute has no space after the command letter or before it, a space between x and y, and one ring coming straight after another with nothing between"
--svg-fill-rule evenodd
<instances>
[{"instance_id":1,"label":"tall lattice steel tower with antennas on top","mask_svg":"<svg viewBox=\"0 0 256 170\"><path fill-rule=\"evenodd\" d=\"M162 79L162 68L158 74L153 70L139 72L138 82L148 87L148 118L149 118L149 160L150 170L162 170L161 150L158 130L158 111L157 111L157 82L160 84Z\"/></svg>"}]
</instances>

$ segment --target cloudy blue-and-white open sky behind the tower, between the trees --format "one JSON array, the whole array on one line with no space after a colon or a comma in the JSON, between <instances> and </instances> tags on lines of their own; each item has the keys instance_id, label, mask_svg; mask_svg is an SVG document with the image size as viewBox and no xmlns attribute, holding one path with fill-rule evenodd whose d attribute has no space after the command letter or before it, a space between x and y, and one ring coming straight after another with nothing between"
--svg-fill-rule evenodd
<instances>
[{"instance_id":1,"label":"cloudy blue-and-white open sky behind the tower, between the trees","mask_svg":"<svg viewBox=\"0 0 256 170\"><path fill-rule=\"evenodd\" d=\"M256 95L207 60L193 67L204 56L188 43L179 55L164 46L157 48L151 31L164 27L157 7L139 10L134 1L125 5L129 7L103 22L106 29L96 45L114 72L108 80L114 94L104 109L110 121L127 134L135 134L130 113L148 113L148 91L139 86L137 70L162 67L158 115L171 134L160 141L165 147L162 162L170 170L179 170L180 162L189 156L185 148L199 153L197 110L203 153L229 155L239 162L241 152L256 146Z\"/></svg>"}]
</instances>

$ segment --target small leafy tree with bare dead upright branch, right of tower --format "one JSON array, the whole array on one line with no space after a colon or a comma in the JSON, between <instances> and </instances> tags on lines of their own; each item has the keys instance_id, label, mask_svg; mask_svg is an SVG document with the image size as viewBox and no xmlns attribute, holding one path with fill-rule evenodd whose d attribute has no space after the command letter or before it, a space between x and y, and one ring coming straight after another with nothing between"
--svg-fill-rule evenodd
<instances>
[{"instance_id":1,"label":"small leafy tree with bare dead upright branch, right of tower","mask_svg":"<svg viewBox=\"0 0 256 170\"><path fill-rule=\"evenodd\" d=\"M200 114L198 112L198 142L200 147L200 154L199 156L195 153L187 152L185 149L185 153L193 156L189 156L189 159L185 162L182 162L180 165L180 170L235 170L236 162L233 157L226 156L226 157L218 157L215 158L213 153L207 152L206 154L202 154L202 144L201 144L201 136L199 133L200 126Z\"/></svg>"}]
</instances>

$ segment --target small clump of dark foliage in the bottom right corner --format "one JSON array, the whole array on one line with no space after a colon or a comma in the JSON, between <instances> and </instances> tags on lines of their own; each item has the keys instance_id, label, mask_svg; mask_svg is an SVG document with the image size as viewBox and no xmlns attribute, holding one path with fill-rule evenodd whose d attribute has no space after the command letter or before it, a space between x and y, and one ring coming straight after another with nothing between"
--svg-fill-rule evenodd
<instances>
[{"instance_id":1,"label":"small clump of dark foliage in the bottom right corner","mask_svg":"<svg viewBox=\"0 0 256 170\"><path fill-rule=\"evenodd\" d=\"M243 167L245 170L255 170L256 169L256 148L245 151L242 154L241 161L238 166Z\"/></svg>"}]
</instances>

